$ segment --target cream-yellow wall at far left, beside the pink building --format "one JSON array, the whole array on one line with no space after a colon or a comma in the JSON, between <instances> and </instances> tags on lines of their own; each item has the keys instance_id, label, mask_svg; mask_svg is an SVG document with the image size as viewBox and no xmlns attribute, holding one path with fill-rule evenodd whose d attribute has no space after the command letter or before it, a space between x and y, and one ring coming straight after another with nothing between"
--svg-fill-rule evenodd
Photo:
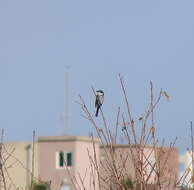
<instances>
[{"instance_id":1,"label":"cream-yellow wall at far left, beside the pink building","mask_svg":"<svg viewBox=\"0 0 194 190\"><path fill-rule=\"evenodd\" d=\"M27 147L31 146L29 142L10 142L5 143L5 149L2 149L3 157L8 158L6 161L7 172L5 177L7 186L11 189L25 189L31 182L31 159L27 159ZM35 144L34 154L34 177L38 176L37 145ZM9 176L8 176L9 175ZM2 184L2 183L1 183Z\"/></svg>"}]
</instances>

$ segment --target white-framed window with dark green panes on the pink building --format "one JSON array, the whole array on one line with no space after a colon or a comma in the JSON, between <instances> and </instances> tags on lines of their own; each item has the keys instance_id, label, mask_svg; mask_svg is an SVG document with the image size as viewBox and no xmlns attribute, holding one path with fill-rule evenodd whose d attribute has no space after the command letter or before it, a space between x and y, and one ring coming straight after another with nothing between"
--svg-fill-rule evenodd
<instances>
[{"instance_id":1,"label":"white-framed window with dark green panes on the pink building","mask_svg":"<svg viewBox=\"0 0 194 190\"><path fill-rule=\"evenodd\" d=\"M56 153L56 168L65 168L65 163L67 167L71 167L73 165L73 154L72 152L57 152Z\"/></svg>"}]
</instances>

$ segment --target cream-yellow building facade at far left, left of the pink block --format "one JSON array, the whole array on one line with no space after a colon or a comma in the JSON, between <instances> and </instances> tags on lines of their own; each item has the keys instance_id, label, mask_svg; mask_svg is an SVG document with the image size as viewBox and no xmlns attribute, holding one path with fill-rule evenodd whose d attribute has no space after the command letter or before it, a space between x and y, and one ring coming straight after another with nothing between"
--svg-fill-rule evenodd
<instances>
[{"instance_id":1,"label":"cream-yellow building facade at far left, left of the pink block","mask_svg":"<svg viewBox=\"0 0 194 190\"><path fill-rule=\"evenodd\" d=\"M27 189L38 176L38 152L34 152L34 170L32 175L32 144L30 142L8 142L1 147L3 171L1 187L5 189ZM34 148L37 150L37 143Z\"/></svg>"}]
</instances>

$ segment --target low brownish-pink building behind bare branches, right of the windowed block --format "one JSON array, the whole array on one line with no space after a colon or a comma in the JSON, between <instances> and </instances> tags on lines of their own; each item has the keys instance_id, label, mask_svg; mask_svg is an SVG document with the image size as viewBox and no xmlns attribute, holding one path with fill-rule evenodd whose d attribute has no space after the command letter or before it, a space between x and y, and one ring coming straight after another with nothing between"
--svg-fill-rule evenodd
<instances>
[{"instance_id":1,"label":"low brownish-pink building behind bare branches, right of the windowed block","mask_svg":"<svg viewBox=\"0 0 194 190\"><path fill-rule=\"evenodd\" d=\"M138 156L142 156L142 159L139 159ZM176 148L153 148L153 146L142 148L139 145L119 144L113 146L101 145L100 160L100 174L103 178L101 185L109 186L111 189L117 189L114 188L117 181L112 179L115 178L114 168L118 173L117 178L128 183L134 184L137 178L143 178L148 185L156 184L158 177L155 171L160 172L159 180L162 189L174 189L177 182L179 159ZM140 162L140 160L142 161ZM139 170L142 171L139 172ZM142 176L139 176L140 174Z\"/></svg>"}]
</instances>

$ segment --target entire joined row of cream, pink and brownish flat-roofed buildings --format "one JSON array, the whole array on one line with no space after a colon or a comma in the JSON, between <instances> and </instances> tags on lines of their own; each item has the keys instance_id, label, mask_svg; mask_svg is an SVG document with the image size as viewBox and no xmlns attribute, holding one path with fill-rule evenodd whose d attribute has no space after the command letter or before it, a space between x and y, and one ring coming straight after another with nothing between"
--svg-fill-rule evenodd
<instances>
[{"instance_id":1,"label":"entire joined row of cream, pink and brownish flat-roofed buildings","mask_svg":"<svg viewBox=\"0 0 194 190\"><path fill-rule=\"evenodd\" d=\"M52 190L89 190L94 189L94 185L95 190L99 185L101 189L115 189L111 173L114 169L111 168L116 167L123 180L133 182L138 177L134 168L136 164L142 164L143 178L147 183L154 184L156 175L153 172L149 176L149 173L156 167L156 160L160 163L157 167L163 184L168 184L170 179L170 187L173 187L178 174L176 148L155 147L153 151L152 146L146 146L142 149L142 163L137 163L138 145L104 146L99 139L89 137L39 137L34 144L34 152L29 142L5 145L10 189L26 189L32 182L48 183Z\"/></svg>"}]
</instances>

